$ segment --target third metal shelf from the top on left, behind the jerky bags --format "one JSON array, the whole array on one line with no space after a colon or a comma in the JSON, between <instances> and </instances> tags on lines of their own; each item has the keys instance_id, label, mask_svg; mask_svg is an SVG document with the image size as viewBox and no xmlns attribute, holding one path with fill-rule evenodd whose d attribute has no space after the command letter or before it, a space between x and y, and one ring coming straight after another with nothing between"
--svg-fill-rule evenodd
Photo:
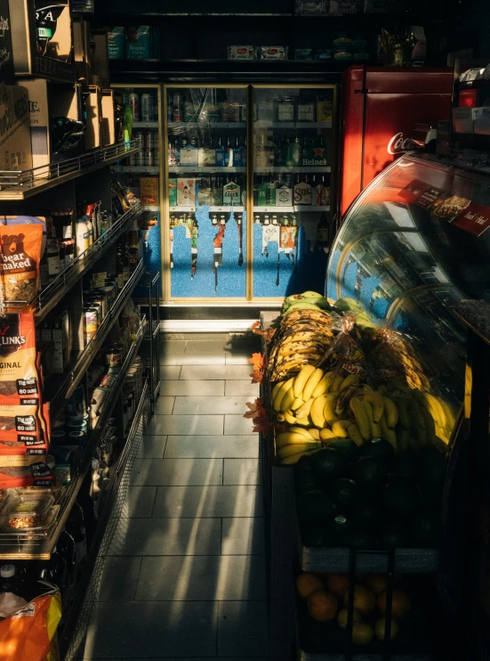
<instances>
[{"instance_id":1,"label":"third metal shelf from the top on left, behind the jerky bags","mask_svg":"<svg viewBox=\"0 0 490 661\"><path fill-rule=\"evenodd\" d=\"M92 340L84 350L76 356L75 363L72 365L71 370L68 373L65 372L64 374L61 374L60 379L53 376L46 382L44 386L44 398L45 401L50 402L50 415L52 420L55 420L58 417L65 406L68 397L71 396L76 389L76 386L83 378L85 371L87 371L90 363L92 363L92 360L102 346L104 339L108 336L108 331L112 328L119 313L140 281L143 271L144 264L141 259L130 279L119 292L114 304L108 310L108 314L104 317L103 322L100 324Z\"/></svg>"}]
</instances>

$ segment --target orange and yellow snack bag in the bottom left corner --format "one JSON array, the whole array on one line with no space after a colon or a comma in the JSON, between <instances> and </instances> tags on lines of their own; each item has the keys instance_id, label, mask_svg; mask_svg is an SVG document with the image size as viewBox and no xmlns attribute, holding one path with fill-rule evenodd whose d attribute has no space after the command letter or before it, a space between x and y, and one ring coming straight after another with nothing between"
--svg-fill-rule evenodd
<instances>
[{"instance_id":1,"label":"orange and yellow snack bag in the bottom left corner","mask_svg":"<svg viewBox=\"0 0 490 661\"><path fill-rule=\"evenodd\" d=\"M0 622L2 661L59 661L56 630L60 619L58 588L6 617Z\"/></svg>"}]
</instances>

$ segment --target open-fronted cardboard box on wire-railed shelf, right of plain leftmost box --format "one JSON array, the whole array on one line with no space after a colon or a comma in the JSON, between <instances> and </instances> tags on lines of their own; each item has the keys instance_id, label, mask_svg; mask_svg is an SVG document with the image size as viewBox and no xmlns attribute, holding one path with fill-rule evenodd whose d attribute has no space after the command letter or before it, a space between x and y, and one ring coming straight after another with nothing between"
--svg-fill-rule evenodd
<instances>
[{"instance_id":1,"label":"open-fronted cardboard box on wire-railed shelf, right of plain leftmost box","mask_svg":"<svg viewBox=\"0 0 490 661\"><path fill-rule=\"evenodd\" d=\"M45 78L23 79L22 86L28 90L32 167L49 166L50 163L78 155L82 150L82 143L69 151L56 153L56 145L52 144L50 134L50 122L54 117L80 120L81 87L68 84L52 85Z\"/></svg>"}]
</instances>

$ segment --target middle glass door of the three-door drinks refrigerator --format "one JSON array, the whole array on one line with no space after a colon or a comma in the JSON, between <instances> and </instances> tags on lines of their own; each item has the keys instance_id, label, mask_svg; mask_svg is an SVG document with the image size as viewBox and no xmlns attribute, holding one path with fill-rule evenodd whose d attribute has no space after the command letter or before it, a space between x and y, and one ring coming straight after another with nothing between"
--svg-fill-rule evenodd
<instances>
[{"instance_id":1,"label":"middle glass door of the three-door drinks refrigerator","mask_svg":"<svg viewBox=\"0 0 490 661\"><path fill-rule=\"evenodd\" d=\"M245 86L165 87L172 300L246 296L246 100Z\"/></svg>"}]
</instances>

